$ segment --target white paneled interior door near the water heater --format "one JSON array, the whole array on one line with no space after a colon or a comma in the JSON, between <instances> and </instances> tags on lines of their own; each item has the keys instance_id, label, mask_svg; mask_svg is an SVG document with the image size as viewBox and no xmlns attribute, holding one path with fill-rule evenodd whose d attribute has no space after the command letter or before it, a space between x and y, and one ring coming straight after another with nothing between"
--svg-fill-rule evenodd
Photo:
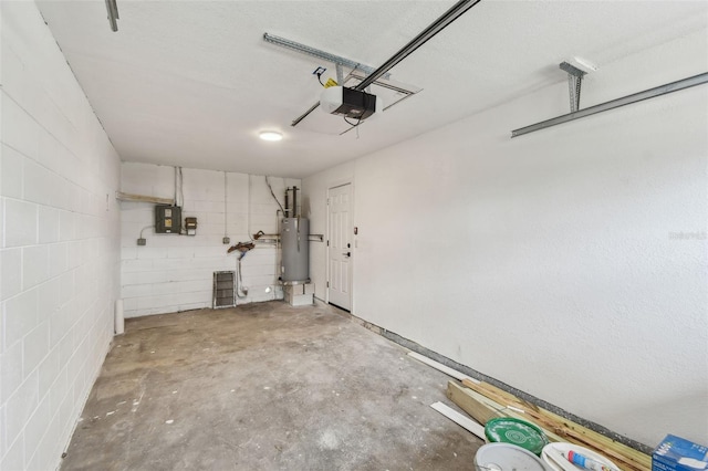
<instances>
[{"instance_id":1,"label":"white paneled interior door near the water heater","mask_svg":"<svg viewBox=\"0 0 708 471\"><path fill-rule=\"evenodd\" d=\"M327 192L327 301L352 310L352 185Z\"/></svg>"}]
</instances>

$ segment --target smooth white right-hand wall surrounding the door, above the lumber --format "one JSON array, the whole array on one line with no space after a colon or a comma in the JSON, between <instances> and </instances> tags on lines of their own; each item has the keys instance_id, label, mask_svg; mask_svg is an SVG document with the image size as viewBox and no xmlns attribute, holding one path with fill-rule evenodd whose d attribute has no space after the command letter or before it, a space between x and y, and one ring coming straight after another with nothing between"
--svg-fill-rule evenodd
<instances>
[{"instance_id":1,"label":"smooth white right-hand wall surrounding the door, above the lumber","mask_svg":"<svg viewBox=\"0 0 708 471\"><path fill-rule=\"evenodd\" d=\"M583 106L705 72L705 38L603 64ZM649 447L706 443L707 111L702 85L511 139L568 112L560 76L305 178L304 201L325 228L354 181L355 315Z\"/></svg>"}]
</instances>

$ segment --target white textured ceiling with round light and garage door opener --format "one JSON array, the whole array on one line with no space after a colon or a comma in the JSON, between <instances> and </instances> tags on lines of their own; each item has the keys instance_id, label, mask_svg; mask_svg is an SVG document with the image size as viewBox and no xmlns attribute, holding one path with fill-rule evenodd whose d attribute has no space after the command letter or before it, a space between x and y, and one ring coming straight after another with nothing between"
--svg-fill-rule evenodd
<instances>
[{"instance_id":1,"label":"white textured ceiling with round light and garage door opener","mask_svg":"<svg viewBox=\"0 0 708 471\"><path fill-rule=\"evenodd\" d=\"M126 161L304 177L704 28L706 1L483 0L392 70L423 92L343 136L315 111L312 71L334 65L264 32L381 65L454 1L38 1ZM660 66L660 65L657 65ZM681 77L677 77L681 78ZM565 111L563 111L565 112ZM322 127L319 123L324 123ZM337 122L339 125L339 122ZM284 134L281 143L257 138ZM319 130L321 129L321 130Z\"/></svg>"}]
</instances>

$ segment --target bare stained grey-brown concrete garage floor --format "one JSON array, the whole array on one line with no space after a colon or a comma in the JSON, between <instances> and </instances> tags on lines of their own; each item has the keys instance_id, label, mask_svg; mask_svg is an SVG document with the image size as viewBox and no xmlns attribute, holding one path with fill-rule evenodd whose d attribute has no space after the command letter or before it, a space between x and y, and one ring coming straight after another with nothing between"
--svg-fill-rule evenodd
<instances>
[{"instance_id":1,"label":"bare stained grey-brown concrete garage floor","mask_svg":"<svg viewBox=\"0 0 708 471\"><path fill-rule=\"evenodd\" d=\"M473 469L448 379L321 304L127 320L61 469Z\"/></svg>"}]
</instances>

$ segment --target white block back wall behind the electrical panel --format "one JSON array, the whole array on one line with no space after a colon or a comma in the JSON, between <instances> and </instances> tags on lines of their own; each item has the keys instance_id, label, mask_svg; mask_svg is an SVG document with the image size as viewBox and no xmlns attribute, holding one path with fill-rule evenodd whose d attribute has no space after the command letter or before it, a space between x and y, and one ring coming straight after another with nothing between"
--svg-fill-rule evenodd
<instances>
[{"instance_id":1,"label":"white block back wall behind the electrical panel","mask_svg":"<svg viewBox=\"0 0 708 471\"><path fill-rule=\"evenodd\" d=\"M155 205L121 202L122 297L126 317L188 311L212 305L215 271L237 269L238 252L230 245L249 242L249 232L278 231L278 203L264 176L183 169L183 221L197 218L197 234L156 234ZM300 187L299 179L269 177L273 192L284 205L284 189ZM174 198L174 167L124 163L122 190L128 193ZM226 195L226 223L225 223ZM249 210L250 208L250 210ZM249 216L250 213L250 216ZM249 222L250 219L250 222ZM250 230L249 230L250 226ZM137 245L143 231L146 245ZM231 240L222 243L223 236ZM281 300L278 284L279 251L272 243L257 243L241 262L248 295L238 304Z\"/></svg>"}]
</instances>

